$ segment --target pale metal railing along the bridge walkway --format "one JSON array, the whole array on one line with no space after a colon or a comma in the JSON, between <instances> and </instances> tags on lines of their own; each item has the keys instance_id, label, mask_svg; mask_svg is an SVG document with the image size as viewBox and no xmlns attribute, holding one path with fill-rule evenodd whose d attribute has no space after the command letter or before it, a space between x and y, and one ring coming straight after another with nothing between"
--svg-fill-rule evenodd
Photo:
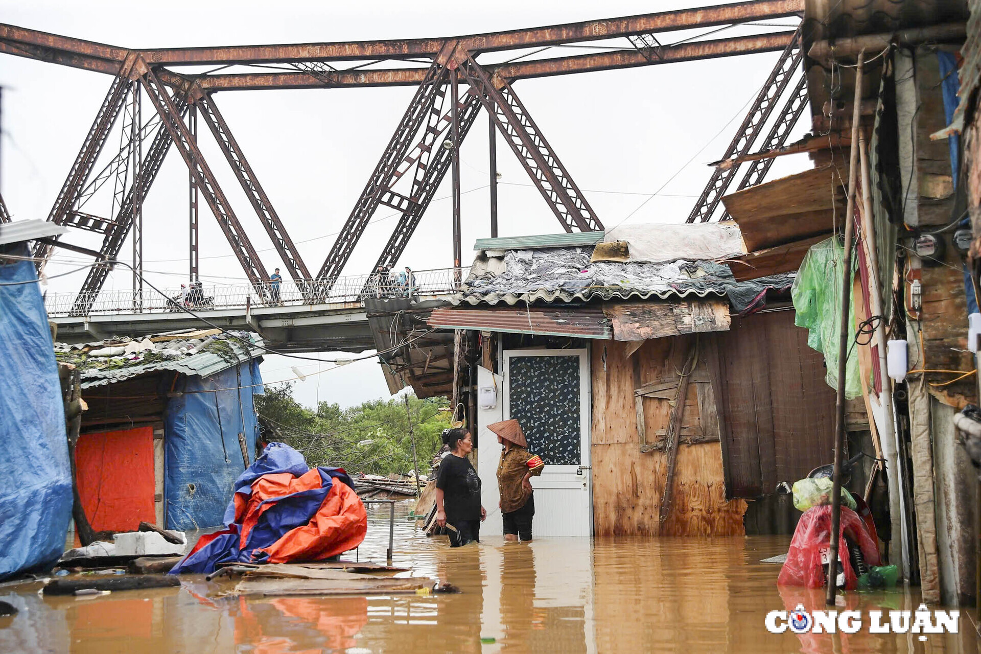
<instances>
[{"instance_id":1,"label":"pale metal railing along the bridge walkway","mask_svg":"<svg viewBox=\"0 0 981 654\"><path fill-rule=\"evenodd\" d=\"M48 293L44 306L48 316L79 316L92 314L130 314L130 313L180 313L181 303L191 311L211 311L214 309L236 309L250 305L253 308L268 306L300 306L312 304L362 303L365 297L405 297L408 295L448 295L459 290L469 269L456 271L444 268L414 273L415 283L411 288L398 283L397 277L380 279L374 275L355 275L337 277L333 283L328 280L309 281L283 280L277 286L266 282L260 289L250 283L207 284L203 283L200 293L188 291L186 295L180 287L162 288L166 297L152 288L143 289L142 298L137 298L132 289L103 290L92 296L77 293ZM190 284L187 284L190 287ZM87 307L86 309L80 309Z\"/></svg>"}]
</instances>

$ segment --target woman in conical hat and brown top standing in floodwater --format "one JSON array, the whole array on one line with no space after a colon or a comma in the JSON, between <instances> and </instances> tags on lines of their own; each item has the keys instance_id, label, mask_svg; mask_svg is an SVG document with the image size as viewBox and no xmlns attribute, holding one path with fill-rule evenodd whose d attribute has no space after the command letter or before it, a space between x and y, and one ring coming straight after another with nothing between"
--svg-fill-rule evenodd
<instances>
[{"instance_id":1,"label":"woman in conical hat and brown top standing in floodwater","mask_svg":"<svg viewBox=\"0 0 981 654\"><path fill-rule=\"evenodd\" d=\"M531 540L535 497L532 476L542 475L542 457L528 451L525 432L516 420L488 425L503 446L497 464L500 513L504 521L504 540Z\"/></svg>"}]
</instances>

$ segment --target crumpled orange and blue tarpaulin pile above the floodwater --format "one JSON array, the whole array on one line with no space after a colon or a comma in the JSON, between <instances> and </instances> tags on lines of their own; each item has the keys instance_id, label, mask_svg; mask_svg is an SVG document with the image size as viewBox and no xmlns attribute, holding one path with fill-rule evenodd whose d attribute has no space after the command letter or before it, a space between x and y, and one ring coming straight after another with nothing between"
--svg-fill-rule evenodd
<instances>
[{"instance_id":1,"label":"crumpled orange and blue tarpaulin pile above the floodwater","mask_svg":"<svg viewBox=\"0 0 981 654\"><path fill-rule=\"evenodd\" d=\"M299 452L270 443L235 480L225 524L201 536L171 574L327 559L361 544L368 515L343 469L310 470Z\"/></svg>"}]
</instances>

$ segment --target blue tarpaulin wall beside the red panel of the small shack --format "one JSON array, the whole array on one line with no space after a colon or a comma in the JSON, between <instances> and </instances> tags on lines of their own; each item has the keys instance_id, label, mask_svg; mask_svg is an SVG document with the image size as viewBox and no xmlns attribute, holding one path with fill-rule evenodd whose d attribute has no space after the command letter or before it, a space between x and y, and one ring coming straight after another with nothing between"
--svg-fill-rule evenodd
<instances>
[{"instance_id":1,"label":"blue tarpaulin wall beside the red panel of the small shack","mask_svg":"<svg viewBox=\"0 0 981 654\"><path fill-rule=\"evenodd\" d=\"M255 457L259 423L252 395L263 392L259 362L211 377L181 377L177 390L182 394L164 414L167 528L217 527L232 500L232 484Z\"/></svg>"}]
</instances>

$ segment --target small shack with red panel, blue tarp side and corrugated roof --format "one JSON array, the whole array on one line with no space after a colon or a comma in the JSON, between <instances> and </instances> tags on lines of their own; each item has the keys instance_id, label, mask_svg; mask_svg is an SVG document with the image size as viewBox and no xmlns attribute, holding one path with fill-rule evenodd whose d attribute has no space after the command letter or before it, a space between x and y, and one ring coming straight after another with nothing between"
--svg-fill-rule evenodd
<instances>
[{"instance_id":1,"label":"small shack with red panel, blue tarp side and corrugated roof","mask_svg":"<svg viewBox=\"0 0 981 654\"><path fill-rule=\"evenodd\" d=\"M218 329L55 345L80 369L88 405L76 463L93 529L222 524L234 479L255 460L261 345Z\"/></svg>"}]
</instances>

